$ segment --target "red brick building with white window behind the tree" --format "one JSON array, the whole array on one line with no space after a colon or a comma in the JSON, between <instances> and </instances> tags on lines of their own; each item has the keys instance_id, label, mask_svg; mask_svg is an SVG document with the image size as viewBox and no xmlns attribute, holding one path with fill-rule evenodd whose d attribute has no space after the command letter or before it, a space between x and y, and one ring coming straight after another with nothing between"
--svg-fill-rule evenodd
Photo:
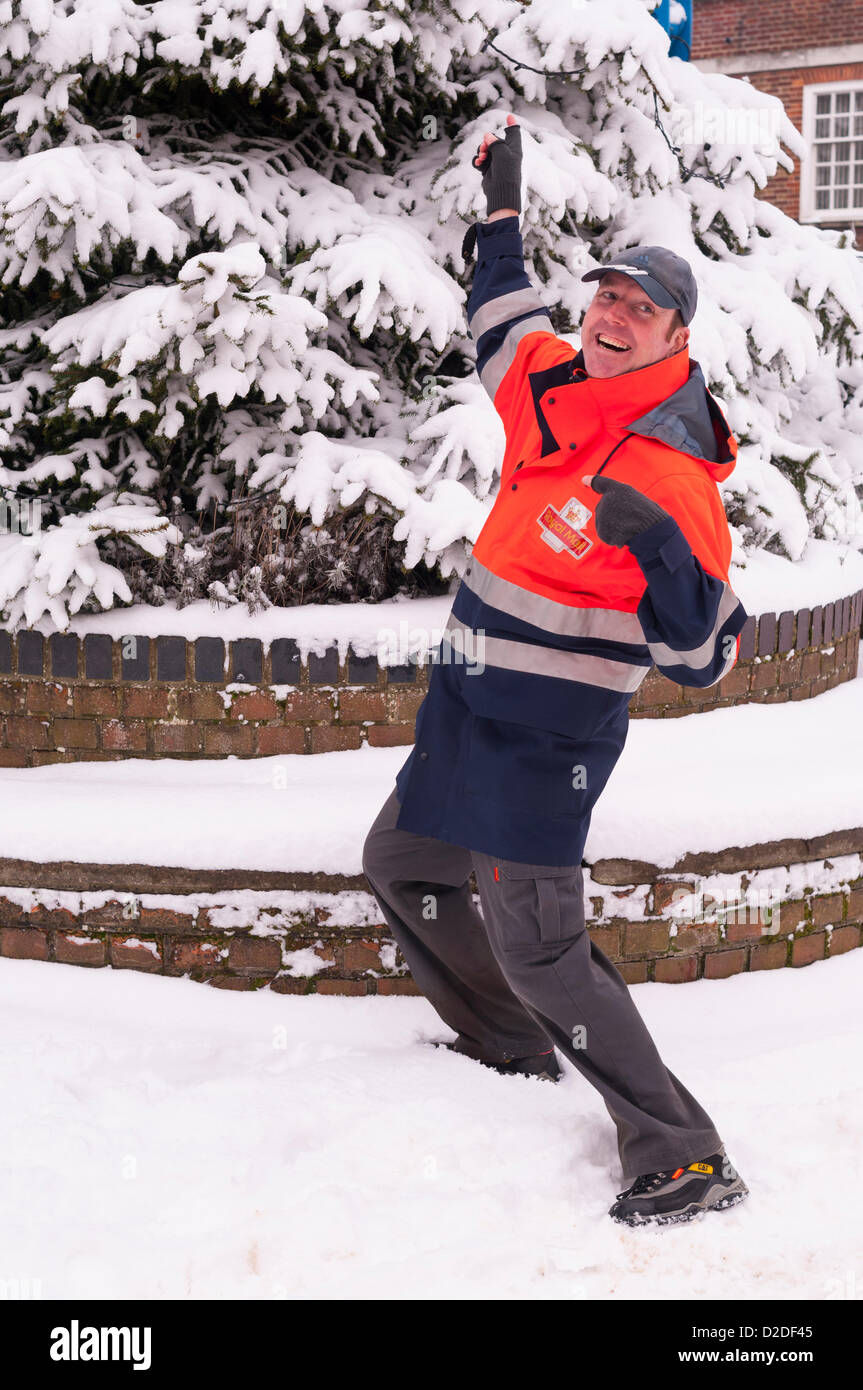
<instances>
[{"instance_id":1,"label":"red brick building with white window behind the tree","mask_svg":"<svg viewBox=\"0 0 863 1390\"><path fill-rule=\"evenodd\" d=\"M695 0L692 61L778 96L807 143L759 196L863 250L863 0Z\"/></svg>"}]
</instances>

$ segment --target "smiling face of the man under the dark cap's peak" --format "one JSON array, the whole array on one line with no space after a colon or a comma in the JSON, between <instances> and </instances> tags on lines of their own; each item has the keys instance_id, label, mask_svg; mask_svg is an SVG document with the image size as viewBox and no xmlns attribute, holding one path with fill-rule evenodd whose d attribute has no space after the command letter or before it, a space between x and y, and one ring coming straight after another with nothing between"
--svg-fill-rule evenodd
<instances>
[{"instance_id":1,"label":"smiling face of the man under the dark cap's peak","mask_svg":"<svg viewBox=\"0 0 863 1390\"><path fill-rule=\"evenodd\" d=\"M631 275L610 270L599 281L581 325L588 375L620 377L678 353L689 341L689 329L677 328L668 338L673 318L674 310L655 304ZM625 343L627 350L602 348L598 335Z\"/></svg>"}]
</instances>

